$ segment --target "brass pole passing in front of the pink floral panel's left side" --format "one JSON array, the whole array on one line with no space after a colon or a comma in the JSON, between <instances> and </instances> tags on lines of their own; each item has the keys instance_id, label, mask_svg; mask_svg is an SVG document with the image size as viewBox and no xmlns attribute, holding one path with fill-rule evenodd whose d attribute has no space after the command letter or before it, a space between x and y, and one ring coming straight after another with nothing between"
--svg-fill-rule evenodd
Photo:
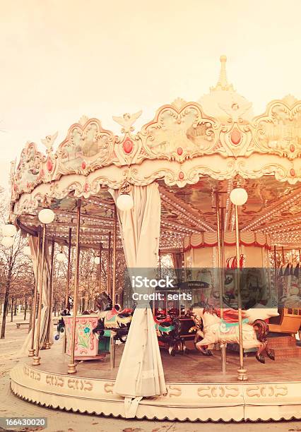
<instances>
[{"instance_id":1,"label":"brass pole passing in front of the pink floral panel's left side","mask_svg":"<svg viewBox=\"0 0 301 432\"><path fill-rule=\"evenodd\" d=\"M78 309L78 274L79 274L79 230L81 227L81 200L77 201L77 221L76 221L76 266L74 275L74 299L73 299L73 320L71 334L71 361L68 365L68 373L76 373L76 363L74 361L74 349L76 339L76 315Z\"/></svg>"}]
</instances>

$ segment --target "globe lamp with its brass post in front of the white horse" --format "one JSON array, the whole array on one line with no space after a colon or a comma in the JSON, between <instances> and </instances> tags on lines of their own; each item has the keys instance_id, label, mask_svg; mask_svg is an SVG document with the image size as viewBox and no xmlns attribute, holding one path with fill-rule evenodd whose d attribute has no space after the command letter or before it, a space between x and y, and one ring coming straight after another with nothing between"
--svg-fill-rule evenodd
<instances>
[{"instance_id":1,"label":"globe lamp with its brass post in front of the white horse","mask_svg":"<svg viewBox=\"0 0 301 432\"><path fill-rule=\"evenodd\" d=\"M238 206L247 203L248 194L244 188L237 187L232 189L230 193L231 203L235 206L235 242L236 242L236 277L235 284L237 287L237 306L238 306L238 332L239 332L239 342L240 342L240 368L237 369L237 379L240 381L247 380L247 369L244 368L244 347L242 339L242 296L240 292L240 232L238 225Z\"/></svg>"}]
</instances>

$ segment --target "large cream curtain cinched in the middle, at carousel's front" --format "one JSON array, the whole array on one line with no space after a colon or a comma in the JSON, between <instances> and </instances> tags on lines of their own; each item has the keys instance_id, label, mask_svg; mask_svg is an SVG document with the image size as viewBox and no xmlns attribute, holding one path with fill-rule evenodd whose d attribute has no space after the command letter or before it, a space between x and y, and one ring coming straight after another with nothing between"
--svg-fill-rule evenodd
<instances>
[{"instance_id":1,"label":"large cream curtain cinched in the middle, at carousel's front","mask_svg":"<svg viewBox=\"0 0 301 432\"><path fill-rule=\"evenodd\" d=\"M110 193L116 201L118 192L111 189ZM158 184L133 186L131 194L134 208L117 209L126 265L132 274L138 275L140 268L143 276L146 272L151 275L158 265L161 208ZM145 293L146 288L141 292ZM128 417L135 415L142 397L166 392L158 337L148 302L139 303L134 311L114 392L126 398Z\"/></svg>"}]
</instances>

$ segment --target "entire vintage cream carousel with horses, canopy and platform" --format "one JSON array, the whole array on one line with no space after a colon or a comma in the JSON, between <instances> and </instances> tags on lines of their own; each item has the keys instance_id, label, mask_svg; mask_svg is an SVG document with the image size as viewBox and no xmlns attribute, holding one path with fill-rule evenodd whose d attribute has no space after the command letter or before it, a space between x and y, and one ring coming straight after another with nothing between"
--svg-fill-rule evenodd
<instances>
[{"instance_id":1,"label":"entire vintage cream carousel with horses, canopy and platform","mask_svg":"<svg viewBox=\"0 0 301 432\"><path fill-rule=\"evenodd\" d=\"M12 164L9 222L28 236L37 311L11 371L18 397L138 419L301 418L301 101L254 116L225 63L208 95L139 131L141 112L113 117L119 135L83 116ZM55 335L56 244L68 270ZM85 249L106 279L84 311ZM130 275L165 277L169 257L175 285L134 304L117 286L121 252Z\"/></svg>"}]
</instances>

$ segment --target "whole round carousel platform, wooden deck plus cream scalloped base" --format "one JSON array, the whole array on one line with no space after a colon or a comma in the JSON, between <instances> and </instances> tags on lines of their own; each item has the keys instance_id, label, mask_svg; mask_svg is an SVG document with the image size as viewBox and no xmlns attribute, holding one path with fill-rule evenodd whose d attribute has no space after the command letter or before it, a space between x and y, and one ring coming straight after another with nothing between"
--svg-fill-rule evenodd
<instances>
[{"instance_id":1,"label":"whole round carousel platform, wooden deck plus cream scalloped base","mask_svg":"<svg viewBox=\"0 0 301 432\"><path fill-rule=\"evenodd\" d=\"M42 351L41 365L25 358L11 371L11 390L18 397L54 409L126 417L124 398L114 395L123 345L116 349L116 368L110 359L83 361L76 375L68 375L69 357L61 344ZM301 419L300 359L279 359L259 364L245 359L247 382L237 381L238 356L227 355L227 373L220 372L220 352L202 356L191 350L170 356L162 350L167 394L143 398L138 419L191 421L244 421Z\"/></svg>"}]
</instances>

